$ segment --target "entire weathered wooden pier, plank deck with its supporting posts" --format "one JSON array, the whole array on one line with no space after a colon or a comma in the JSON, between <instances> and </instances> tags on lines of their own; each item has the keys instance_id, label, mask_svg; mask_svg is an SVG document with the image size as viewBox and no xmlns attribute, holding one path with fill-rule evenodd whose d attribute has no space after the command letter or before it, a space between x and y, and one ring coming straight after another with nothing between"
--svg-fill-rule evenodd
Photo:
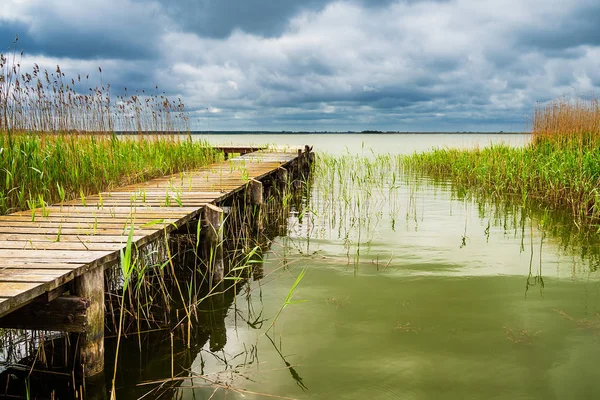
<instances>
[{"instance_id":1,"label":"entire weathered wooden pier, plank deck with its supporting posts","mask_svg":"<svg viewBox=\"0 0 600 400\"><path fill-rule=\"evenodd\" d=\"M85 375L101 372L104 269L119 261L129 236L140 247L201 218L219 224L218 204L244 190L260 201L261 180L287 176L287 170L303 168L311 156L308 147L229 146L222 151L240 156L0 216L0 327L81 333Z\"/></svg>"}]
</instances>

